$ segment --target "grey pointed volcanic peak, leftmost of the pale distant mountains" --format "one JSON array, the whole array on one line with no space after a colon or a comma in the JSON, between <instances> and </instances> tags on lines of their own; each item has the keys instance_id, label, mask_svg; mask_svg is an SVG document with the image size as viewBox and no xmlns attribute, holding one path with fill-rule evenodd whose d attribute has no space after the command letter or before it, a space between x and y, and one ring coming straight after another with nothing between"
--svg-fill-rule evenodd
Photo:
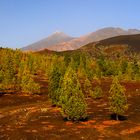
<instances>
[{"instance_id":1,"label":"grey pointed volcanic peak, leftmost of the pale distant mountains","mask_svg":"<svg viewBox=\"0 0 140 140\"><path fill-rule=\"evenodd\" d=\"M55 32L54 34L50 35L49 37L47 37L45 39L42 39L38 42L35 42L31 45L21 48L21 50L39 51L39 50L46 49L50 46L56 45L61 42L70 41L72 39L74 39L74 38L66 35L63 32Z\"/></svg>"}]
</instances>

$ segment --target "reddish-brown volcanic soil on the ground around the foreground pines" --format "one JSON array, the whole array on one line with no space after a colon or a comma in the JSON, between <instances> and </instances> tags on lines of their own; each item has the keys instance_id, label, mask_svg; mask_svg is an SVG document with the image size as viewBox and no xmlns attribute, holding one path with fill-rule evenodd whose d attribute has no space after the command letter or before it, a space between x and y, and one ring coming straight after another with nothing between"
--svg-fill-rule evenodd
<instances>
[{"instance_id":1,"label":"reddish-brown volcanic soil on the ground around the foreground pines","mask_svg":"<svg viewBox=\"0 0 140 140\"><path fill-rule=\"evenodd\" d=\"M42 95L5 94L0 97L0 140L139 140L140 82L123 82L129 110L124 120L110 118L108 89L111 81L102 80L104 97L88 98L87 121L62 118L47 96L47 80L40 77ZM93 85L94 86L94 85Z\"/></svg>"}]
</instances>

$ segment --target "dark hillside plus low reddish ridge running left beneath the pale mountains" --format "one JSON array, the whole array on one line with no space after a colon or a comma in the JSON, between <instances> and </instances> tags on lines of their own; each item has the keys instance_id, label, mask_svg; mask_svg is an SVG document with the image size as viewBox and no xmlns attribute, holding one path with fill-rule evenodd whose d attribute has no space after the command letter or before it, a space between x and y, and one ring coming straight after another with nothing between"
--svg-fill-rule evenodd
<instances>
[{"instance_id":1,"label":"dark hillside plus low reddish ridge running left beneath the pale mountains","mask_svg":"<svg viewBox=\"0 0 140 140\"><path fill-rule=\"evenodd\" d=\"M107 57L117 58L118 56L123 57L134 57L134 53L140 54L140 34L136 35L120 35L112 38L107 38L101 41L92 42L80 47L77 50L67 51L51 51L41 50L35 53L44 55L81 55L86 54L88 56L99 58L102 54Z\"/></svg>"}]
</instances>

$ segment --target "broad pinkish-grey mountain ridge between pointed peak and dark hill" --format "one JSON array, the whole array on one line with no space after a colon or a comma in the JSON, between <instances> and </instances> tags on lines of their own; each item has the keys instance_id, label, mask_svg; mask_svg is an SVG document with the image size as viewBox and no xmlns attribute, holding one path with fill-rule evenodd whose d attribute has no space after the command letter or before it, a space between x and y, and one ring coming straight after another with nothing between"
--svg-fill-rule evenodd
<instances>
[{"instance_id":1,"label":"broad pinkish-grey mountain ridge between pointed peak and dark hill","mask_svg":"<svg viewBox=\"0 0 140 140\"><path fill-rule=\"evenodd\" d=\"M140 30L136 29L123 30L121 28L113 28L113 27L103 28L95 32L92 32L88 35L81 36L79 38L75 38L67 42L61 42L54 46L50 46L47 49L53 51L75 50L90 42L96 42L119 35L132 35L132 34L140 34Z\"/></svg>"}]
</instances>

